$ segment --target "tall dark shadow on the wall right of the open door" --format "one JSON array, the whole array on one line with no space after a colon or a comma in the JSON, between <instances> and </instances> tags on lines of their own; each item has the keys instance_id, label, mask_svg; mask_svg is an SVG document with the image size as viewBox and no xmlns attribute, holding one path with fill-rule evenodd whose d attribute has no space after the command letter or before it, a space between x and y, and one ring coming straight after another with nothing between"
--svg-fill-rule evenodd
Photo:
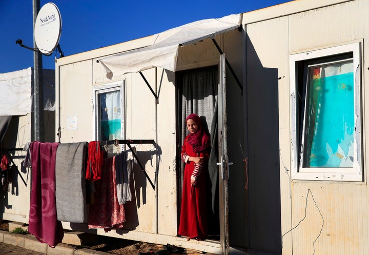
<instances>
[{"instance_id":1,"label":"tall dark shadow on the wall right of the open door","mask_svg":"<svg viewBox=\"0 0 369 255\"><path fill-rule=\"evenodd\" d=\"M262 66L247 36L249 247L280 254L278 69ZM286 120L288 121L288 120Z\"/></svg>"}]
</instances>

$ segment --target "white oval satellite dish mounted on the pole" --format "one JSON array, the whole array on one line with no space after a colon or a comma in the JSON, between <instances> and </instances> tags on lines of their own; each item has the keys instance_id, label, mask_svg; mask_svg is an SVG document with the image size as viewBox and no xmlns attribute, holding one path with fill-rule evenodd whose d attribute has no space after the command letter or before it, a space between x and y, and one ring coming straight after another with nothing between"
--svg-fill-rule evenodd
<instances>
[{"instance_id":1,"label":"white oval satellite dish mounted on the pole","mask_svg":"<svg viewBox=\"0 0 369 255\"><path fill-rule=\"evenodd\" d=\"M38 50L50 55L59 44L61 34L61 16L59 9L53 3L45 4L38 12L34 40Z\"/></svg>"}]
</instances>

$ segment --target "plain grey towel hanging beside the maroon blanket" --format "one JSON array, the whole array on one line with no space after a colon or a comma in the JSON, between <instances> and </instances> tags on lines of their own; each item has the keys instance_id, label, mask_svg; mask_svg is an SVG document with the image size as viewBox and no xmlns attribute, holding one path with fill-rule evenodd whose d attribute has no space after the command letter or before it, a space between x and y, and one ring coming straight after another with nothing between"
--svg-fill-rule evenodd
<instances>
[{"instance_id":1,"label":"plain grey towel hanging beside the maroon blanket","mask_svg":"<svg viewBox=\"0 0 369 255\"><path fill-rule=\"evenodd\" d=\"M60 144L56 151L57 219L87 223L85 153L87 142Z\"/></svg>"}]
</instances>

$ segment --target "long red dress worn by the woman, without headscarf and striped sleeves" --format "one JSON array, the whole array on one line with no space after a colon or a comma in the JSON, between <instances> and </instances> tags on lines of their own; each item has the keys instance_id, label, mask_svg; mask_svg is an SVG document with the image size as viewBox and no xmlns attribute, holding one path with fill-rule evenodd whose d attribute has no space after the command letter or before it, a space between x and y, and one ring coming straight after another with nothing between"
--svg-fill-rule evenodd
<instances>
[{"instance_id":1,"label":"long red dress worn by the woman, without headscarf and striped sleeves","mask_svg":"<svg viewBox=\"0 0 369 255\"><path fill-rule=\"evenodd\" d=\"M188 137L183 142L181 158L183 155L203 156L201 172L197 176L196 186L191 186L191 175L195 169L194 162L185 162L183 176L182 203L178 234L191 239L206 239L208 230L207 203L206 203L206 171L208 171L209 153L196 153L188 143Z\"/></svg>"}]
</instances>

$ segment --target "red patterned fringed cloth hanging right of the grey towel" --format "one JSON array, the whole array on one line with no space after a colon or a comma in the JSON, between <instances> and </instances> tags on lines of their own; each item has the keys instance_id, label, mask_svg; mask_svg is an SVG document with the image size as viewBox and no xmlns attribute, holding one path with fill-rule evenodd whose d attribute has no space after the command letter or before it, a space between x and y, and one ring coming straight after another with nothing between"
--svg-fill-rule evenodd
<instances>
[{"instance_id":1,"label":"red patterned fringed cloth hanging right of the grey towel","mask_svg":"<svg viewBox=\"0 0 369 255\"><path fill-rule=\"evenodd\" d=\"M126 213L119 205L115 179L115 156L103 160L101 179L95 182L95 203L90 206L89 228L104 228L105 232L123 227Z\"/></svg>"}]
</instances>

